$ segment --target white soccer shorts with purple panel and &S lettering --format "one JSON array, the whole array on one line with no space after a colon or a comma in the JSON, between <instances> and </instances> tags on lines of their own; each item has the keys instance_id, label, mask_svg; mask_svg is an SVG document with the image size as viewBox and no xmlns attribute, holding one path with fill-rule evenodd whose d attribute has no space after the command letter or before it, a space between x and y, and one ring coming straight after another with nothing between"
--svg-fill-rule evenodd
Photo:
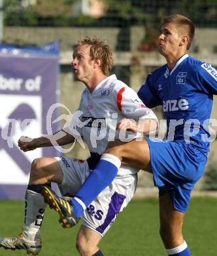
<instances>
[{"instance_id":1,"label":"white soccer shorts with purple panel and &S lettering","mask_svg":"<svg viewBox=\"0 0 217 256\"><path fill-rule=\"evenodd\" d=\"M56 160L63 171L63 182L59 190L63 196L74 196L90 174L88 162L63 157ZM136 187L137 174L116 176L84 211L82 224L103 236L133 198Z\"/></svg>"}]
</instances>

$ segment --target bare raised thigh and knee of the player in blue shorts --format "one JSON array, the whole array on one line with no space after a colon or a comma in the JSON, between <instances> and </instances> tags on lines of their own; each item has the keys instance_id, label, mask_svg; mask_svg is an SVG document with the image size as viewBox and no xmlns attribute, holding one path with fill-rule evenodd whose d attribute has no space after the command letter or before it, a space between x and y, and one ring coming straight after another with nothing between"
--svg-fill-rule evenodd
<instances>
[{"instance_id":1,"label":"bare raised thigh and knee of the player in blue shorts","mask_svg":"<svg viewBox=\"0 0 217 256\"><path fill-rule=\"evenodd\" d=\"M106 153L113 154L122 160L122 164L137 167L145 171L150 168L150 150L146 139L122 142L109 142Z\"/></svg>"}]
</instances>

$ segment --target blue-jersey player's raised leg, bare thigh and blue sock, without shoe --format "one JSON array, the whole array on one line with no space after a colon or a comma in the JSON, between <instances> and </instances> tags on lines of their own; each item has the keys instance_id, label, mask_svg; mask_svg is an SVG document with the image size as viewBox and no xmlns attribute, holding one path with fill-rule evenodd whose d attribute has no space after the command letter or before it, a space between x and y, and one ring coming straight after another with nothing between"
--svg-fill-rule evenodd
<instances>
[{"instance_id":1,"label":"blue-jersey player's raised leg, bare thigh and blue sock, without shoe","mask_svg":"<svg viewBox=\"0 0 217 256\"><path fill-rule=\"evenodd\" d=\"M112 182L120 161L123 164L150 171L150 153L148 143L132 140L131 142L114 141L101 157L97 167L71 200L76 217L80 217L84 209L97 197L97 195ZM94 184L94 186L93 186Z\"/></svg>"}]
</instances>

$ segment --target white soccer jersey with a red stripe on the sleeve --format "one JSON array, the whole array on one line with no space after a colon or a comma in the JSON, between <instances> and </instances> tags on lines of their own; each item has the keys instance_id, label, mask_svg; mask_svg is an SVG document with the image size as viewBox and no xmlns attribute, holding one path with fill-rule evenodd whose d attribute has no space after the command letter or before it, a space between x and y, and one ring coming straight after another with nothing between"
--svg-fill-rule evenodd
<instances>
[{"instance_id":1,"label":"white soccer jersey with a red stripe on the sleeve","mask_svg":"<svg viewBox=\"0 0 217 256\"><path fill-rule=\"evenodd\" d=\"M124 138L135 139L141 136L139 133L118 133L116 125L121 119L157 119L154 112L144 106L137 93L118 80L116 75L105 78L92 93L84 89L78 110L82 113L80 121L86 124L77 131L88 144L90 152L99 155L105 152L109 141L127 141ZM132 171L125 174L129 173Z\"/></svg>"}]
</instances>

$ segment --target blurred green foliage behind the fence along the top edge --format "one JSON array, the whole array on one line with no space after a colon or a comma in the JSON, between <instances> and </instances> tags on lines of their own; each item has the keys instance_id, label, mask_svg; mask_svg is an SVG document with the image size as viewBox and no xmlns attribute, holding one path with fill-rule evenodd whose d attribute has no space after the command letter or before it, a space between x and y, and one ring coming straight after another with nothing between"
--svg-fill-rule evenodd
<instances>
[{"instance_id":1,"label":"blurred green foliage behind the fence along the top edge","mask_svg":"<svg viewBox=\"0 0 217 256\"><path fill-rule=\"evenodd\" d=\"M217 0L97 0L105 6L105 15L93 18L78 13L72 16L74 3L84 0L4 0L8 26L118 26L142 24L158 27L162 16L181 13L196 26L217 25ZM93 4L93 0L86 0Z\"/></svg>"}]
</instances>

